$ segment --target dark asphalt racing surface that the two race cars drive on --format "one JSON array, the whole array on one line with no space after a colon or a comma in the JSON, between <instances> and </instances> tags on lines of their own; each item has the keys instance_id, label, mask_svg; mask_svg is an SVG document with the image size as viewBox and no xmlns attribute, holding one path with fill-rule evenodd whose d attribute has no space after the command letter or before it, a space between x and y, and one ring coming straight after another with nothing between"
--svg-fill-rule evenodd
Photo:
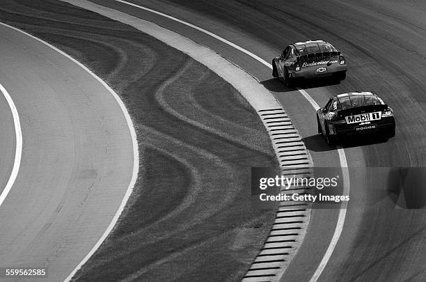
<instances>
[{"instance_id":1,"label":"dark asphalt racing surface that the two race cars drive on","mask_svg":"<svg viewBox=\"0 0 426 282\"><path fill-rule=\"evenodd\" d=\"M338 166L336 148L317 135L315 111L294 88L271 78L268 68L222 42L164 17L116 1L94 1L211 47L257 77L289 113L316 166ZM349 62L341 84L310 81L304 88L319 105L331 95L374 91L395 111L397 135L388 142L344 144L349 166L425 166L424 1L134 1L207 29L265 60L290 42L324 39ZM351 180L352 196L366 196L368 180ZM352 207L336 250L319 281L424 281L425 212ZM395 206L394 206L395 207ZM333 233L337 211L314 210L310 229L285 281L308 281Z\"/></svg>"}]
</instances>

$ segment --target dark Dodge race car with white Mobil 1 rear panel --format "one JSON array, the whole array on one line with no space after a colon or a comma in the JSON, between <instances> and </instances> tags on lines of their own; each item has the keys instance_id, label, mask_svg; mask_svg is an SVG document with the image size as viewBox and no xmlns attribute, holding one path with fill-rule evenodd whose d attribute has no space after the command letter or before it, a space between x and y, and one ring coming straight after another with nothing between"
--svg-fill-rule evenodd
<instances>
[{"instance_id":1,"label":"dark Dodge race car with white Mobil 1 rear panel","mask_svg":"<svg viewBox=\"0 0 426 282\"><path fill-rule=\"evenodd\" d=\"M318 133L329 145L340 136L377 133L383 139L395 136L393 111L371 92L344 93L331 97L317 111Z\"/></svg>"}]
</instances>

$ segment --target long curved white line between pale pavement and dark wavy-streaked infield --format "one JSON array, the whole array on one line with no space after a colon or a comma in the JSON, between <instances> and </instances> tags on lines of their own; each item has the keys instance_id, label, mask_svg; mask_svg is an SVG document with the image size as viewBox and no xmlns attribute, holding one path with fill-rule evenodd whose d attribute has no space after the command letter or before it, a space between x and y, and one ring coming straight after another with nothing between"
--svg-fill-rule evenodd
<instances>
[{"instance_id":1,"label":"long curved white line between pale pavement and dark wavy-streaked infield","mask_svg":"<svg viewBox=\"0 0 426 282\"><path fill-rule=\"evenodd\" d=\"M105 88L107 88L107 90L109 91L109 93L111 93L111 95L113 95L113 97L116 99L116 101L118 103L118 106L120 106L121 111L123 111L123 115L125 116L125 119L126 119L126 122L127 122L127 126L129 127L130 135L132 136L132 146L133 146L133 155L134 155L134 158L133 158L132 179L130 180L129 187L127 187L127 191L125 193L125 196L123 197L123 200L120 203L120 207L118 207L118 210L117 210L116 214L114 214L113 219L111 220L111 222L109 223L109 226L107 227L107 230L104 231L104 233L102 234L102 236L100 237L100 239L97 240L95 246L93 246L93 248L90 249L90 251L83 258L83 260L81 260L81 262L72 270L72 272L70 273L70 275L68 275L68 277L65 279L65 281L70 281L72 279L72 276L74 276L74 274L77 272L77 270L80 269L81 266L84 265L84 263L86 263L86 261L100 247L100 245L102 244L102 242L104 242L104 240L107 238L107 236L109 235L109 233L111 233L111 230L113 229L113 227L116 225L116 223L118 221L118 217L120 217L120 214L124 210L124 207L125 207L125 205L127 203L127 200L129 199L130 194L132 194L133 187L134 187L134 184L136 183L136 178L138 176L138 171L139 171L139 150L138 150L138 141L136 140L136 132L134 130L132 118L130 118L130 115L127 112L125 104L120 99L120 96L118 96L117 93L115 93L111 89L111 87L108 86L108 84L106 84L102 79L100 79L100 77L97 77L97 75L95 75L88 68L86 68L85 65L81 64L79 61L77 61L76 59L72 58L70 55L65 54L60 49L54 47L53 45L50 45L49 43L41 40L40 38L36 38L35 36L32 36L31 34L26 33L25 31L17 29L17 28L15 28L13 26L9 26L8 24L4 24L3 22L0 22L0 24L3 25L3 26L8 26L10 29L14 29L15 31L19 31L20 33L24 33L26 36L29 36L29 37L37 40L38 42L41 42L42 44L46 45L47 47L50 47L50 48L54 49L59 54L62 54L66 58L70 59L71 61L73 61L74 63L76 63L77 65L79 65L83 70L85 70L86 72L88 72L92 77L94 77L97 81L99 81L100 84L102 84L102 86L104 86Z\"/></svg>"}]
</instances>

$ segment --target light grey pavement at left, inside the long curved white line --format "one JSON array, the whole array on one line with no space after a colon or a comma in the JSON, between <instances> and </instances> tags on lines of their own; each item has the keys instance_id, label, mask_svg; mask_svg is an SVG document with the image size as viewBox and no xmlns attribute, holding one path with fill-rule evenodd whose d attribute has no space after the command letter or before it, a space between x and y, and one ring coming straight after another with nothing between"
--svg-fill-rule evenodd
<instances>
[{"instance_id":1,"label":"light grey pavement at left, inside the long curved white line","mask_svg":"<svg viewBox=\"0 0 426 282\"><path fill-rule=\"evenodd\" d=\"M4 25L0 45L1 84L23 139L19 173L0 206L0 265L47 267L41 281L61 281L118 210L132 178L132 137L115 98L69 58ZM0 102L9 127L2 134L10 134L10 109ZM14 154L14 143L3 146Z\"/></svg>"}]
</instances>

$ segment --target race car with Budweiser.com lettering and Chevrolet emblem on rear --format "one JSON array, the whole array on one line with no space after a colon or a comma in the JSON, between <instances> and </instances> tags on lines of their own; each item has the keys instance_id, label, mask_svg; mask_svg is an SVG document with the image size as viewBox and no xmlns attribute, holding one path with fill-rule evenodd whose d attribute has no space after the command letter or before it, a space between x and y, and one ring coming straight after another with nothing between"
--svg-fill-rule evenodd
<instances>
[{"instance_id":1,"label":"race car with Budweiser.com lettering and Chevrolet emblem on rear","mask_svg":"<svg viewBox=\"0 0 426 282\"><path fill-rule=\"evenodd\" d=\"M299 78L333 76L346 78L345 57L324 40L297 42L288 45L281 56L272 60L272 76L292 87Z\"/></svg>"}]
</instances>

